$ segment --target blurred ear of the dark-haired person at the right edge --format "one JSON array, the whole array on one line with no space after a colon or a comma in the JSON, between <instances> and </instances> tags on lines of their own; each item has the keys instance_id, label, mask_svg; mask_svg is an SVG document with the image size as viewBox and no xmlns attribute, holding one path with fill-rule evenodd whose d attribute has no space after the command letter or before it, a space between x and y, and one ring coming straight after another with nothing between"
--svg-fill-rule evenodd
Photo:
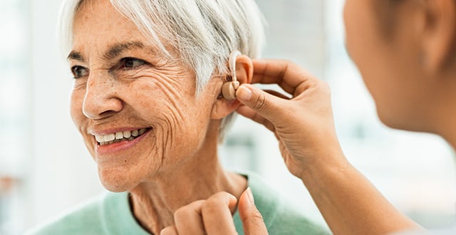
<instances>
[{"instance_id":1,"label":"blurred ear of the dark-haired person at the right edge","mask_svg":"<svg viewBox=\"0 0 456 235\"><path fill-rule=\"evenodd\" d=\"M423 10L423 66L440 73L455 60L456 1L424 1Z\"/></svg>"}]
</instances>

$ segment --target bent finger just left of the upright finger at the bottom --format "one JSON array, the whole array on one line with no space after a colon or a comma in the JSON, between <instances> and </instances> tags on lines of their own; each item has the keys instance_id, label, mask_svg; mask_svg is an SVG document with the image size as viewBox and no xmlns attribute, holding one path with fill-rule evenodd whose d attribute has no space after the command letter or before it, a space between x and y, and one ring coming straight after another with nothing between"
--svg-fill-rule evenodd
<instances>
[{"instance_id":1,"label":"bent finger just left of the upright finger at the bottom","mask_svg":"<svg viewBox=\"0 0 456 235\"><path fill-rule=\"evenodd\" d=\"M202 205L202 220L207 234L237 234L232 214L236 210L237 199L227 192L219 192Z\"/></svg>"}]
</instances>

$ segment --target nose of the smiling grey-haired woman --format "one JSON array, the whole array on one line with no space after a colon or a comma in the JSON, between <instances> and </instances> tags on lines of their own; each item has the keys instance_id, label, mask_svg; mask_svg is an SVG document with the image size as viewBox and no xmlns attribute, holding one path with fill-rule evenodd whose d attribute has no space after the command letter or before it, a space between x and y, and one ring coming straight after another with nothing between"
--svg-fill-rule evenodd
<instances>
[{"instance_id":1,"label":"nose of the smiling grey-haired woman","mask_svg":"<svg viewBox=\"0 0 456 235\"><path fill-rule=\"evenodd\" d=\"M90 119L110 117L123 109L112 78L89 76L83 100L83 114Z\"/></svg>"}]
</instances>

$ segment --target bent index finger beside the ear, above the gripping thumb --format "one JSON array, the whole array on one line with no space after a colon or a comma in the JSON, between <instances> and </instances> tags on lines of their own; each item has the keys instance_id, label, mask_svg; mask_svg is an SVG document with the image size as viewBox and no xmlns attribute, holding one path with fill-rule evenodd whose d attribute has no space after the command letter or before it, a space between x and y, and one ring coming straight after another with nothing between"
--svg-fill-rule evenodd
<instances>
[{"instance_id":1,"label":"bent index finger beside the ear, above the gripping thumb","mask_svg":"<svg viewBox=\"0 0 456 235\"><path fill-rule=\"evenodd\" d=\"M275 83L290 94L294 94L296 87L312 78L304 68L291 61L260 59L252 62L254 65L252 83Z\"/></svg>"}]
</instances>

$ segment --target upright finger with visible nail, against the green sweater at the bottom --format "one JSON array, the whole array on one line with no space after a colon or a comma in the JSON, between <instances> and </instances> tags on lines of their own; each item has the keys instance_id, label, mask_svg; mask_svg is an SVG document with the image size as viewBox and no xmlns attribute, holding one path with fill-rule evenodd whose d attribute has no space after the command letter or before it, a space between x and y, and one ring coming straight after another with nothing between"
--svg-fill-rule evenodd
<instances>
[{"instance_id":1,"label":"upright finger with visible nail, against the green sweater at the bottom","mask_svg":"<svg viewBox=\"0 0 456 235\"><path fill-rule=\"evenodd\" d=\"M257 207L255 207L254 197L250 188L247 188L239 198L238 210L242 226L244 227L244 234L268 234L263 216L261 216Z\"/></svg>"}]
</instances>

